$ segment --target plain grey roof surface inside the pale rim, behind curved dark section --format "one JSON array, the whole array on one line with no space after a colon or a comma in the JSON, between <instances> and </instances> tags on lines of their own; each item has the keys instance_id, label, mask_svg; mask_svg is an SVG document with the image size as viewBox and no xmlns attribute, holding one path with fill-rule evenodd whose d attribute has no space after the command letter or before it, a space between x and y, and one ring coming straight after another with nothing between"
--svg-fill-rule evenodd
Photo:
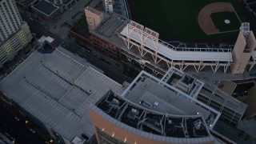
<instances>
[{"instance_id":1,"label":"plain grey roof surface inside the pale rim, behind curved dark section","mask_svg":"<svg viewBox=\"0 0 256 144\"><path fill-rule=\"evenodd\" d=\"M182 98L182 94L158 84L150 78L139 81L125 98L151 110L174 115L196 115L208 118L210 111ZM149 106L142 102L148 103ZM182 103L182 105L181 105Z\"/></svg>"}]
</instances>

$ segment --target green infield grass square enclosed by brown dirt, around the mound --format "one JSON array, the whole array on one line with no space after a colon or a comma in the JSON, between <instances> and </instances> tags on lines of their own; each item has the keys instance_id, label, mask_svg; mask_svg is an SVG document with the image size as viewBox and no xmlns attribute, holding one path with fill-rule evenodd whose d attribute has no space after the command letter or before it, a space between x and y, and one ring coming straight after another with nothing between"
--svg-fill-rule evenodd
<instances>
[{"instance_id":1,"label":"green infield grass square enclosed by brown dirt, around the mound","mask_svg":"<svg viewBox=\"0 0 256 144\"><path fill-rule=\"evenodd\" d=\"M210 14L210 18L213 20L214 26L221 32L239 30L239 26L241 26L237 15L230 11ZM226 19L230 21L229 24L225 23Z\"/></svg>"}]
</instances>

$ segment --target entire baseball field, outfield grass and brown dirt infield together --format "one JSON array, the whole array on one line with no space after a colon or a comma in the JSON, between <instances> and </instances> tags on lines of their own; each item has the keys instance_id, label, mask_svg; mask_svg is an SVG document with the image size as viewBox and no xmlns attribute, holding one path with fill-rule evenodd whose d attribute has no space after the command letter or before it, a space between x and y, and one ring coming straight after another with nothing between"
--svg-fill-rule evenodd
<instances>
[{"instance_id":1,"label":"entire baseball field, outfield grass and brown dirt infield together","mask_svg":"<svg viewBox=\"0 0 256 144\"><path fill-rule=\"evenodd\" d=\"M128 0L132 20L163 40L235 41L246 17L236 0Z\"/></svg>"}]
</instances>

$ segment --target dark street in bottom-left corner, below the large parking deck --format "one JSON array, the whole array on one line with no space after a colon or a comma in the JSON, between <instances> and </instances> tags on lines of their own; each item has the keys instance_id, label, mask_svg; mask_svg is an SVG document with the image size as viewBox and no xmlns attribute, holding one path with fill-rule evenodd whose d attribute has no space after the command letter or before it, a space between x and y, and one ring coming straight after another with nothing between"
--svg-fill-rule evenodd
<instances>
[{"instance_id":1,"label":"dark street in bottom-left corner, below the large parking deck","mask_svg":"<svg viewBox=\"0 0 256 144\"><path fill-rule=\"evenodd\" d=\"M38 135L34 127L26 124L26 119L22 114L15 113L11 110L11 106L2 99L0 99L0 133L16 144L46 142L46 139Z\"/></svg>"}]
</instances>

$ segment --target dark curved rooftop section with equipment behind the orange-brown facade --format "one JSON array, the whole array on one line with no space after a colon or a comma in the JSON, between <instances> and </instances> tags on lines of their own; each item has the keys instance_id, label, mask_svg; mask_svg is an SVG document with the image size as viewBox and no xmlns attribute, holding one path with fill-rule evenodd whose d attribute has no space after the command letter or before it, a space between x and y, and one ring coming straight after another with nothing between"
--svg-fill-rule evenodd
<instances>
[{"instance_id":1,"label":"dark curved rooftop section with equipment behind the orange-brown facade","mask_svg":"<svg viewBox=\"0 0 256 144\"><path fill-rule=\"evenodd\" d=\"M173 138L209 136L202 116L170 115L146 110L109 91L99 102L99 109L112 118L138 130Z\"/></svg>"}]
</instances>

